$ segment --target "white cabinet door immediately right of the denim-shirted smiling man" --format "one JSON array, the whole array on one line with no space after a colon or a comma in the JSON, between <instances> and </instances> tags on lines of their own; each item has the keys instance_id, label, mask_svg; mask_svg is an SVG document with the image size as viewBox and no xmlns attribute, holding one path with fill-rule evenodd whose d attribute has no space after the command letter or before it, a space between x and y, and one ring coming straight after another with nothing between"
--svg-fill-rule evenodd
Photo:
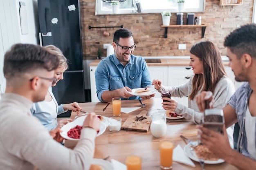
<instances>
[{"instance_id":1,"label":"white cabinet door immediately right of the denim-shirted smiling man","mask_svg":"<svg viewBox=\"0 0 256 170\"><path fill-rule=\"evenodd\" d=\"M164 86L168 84L168 66L148 66L148 71L150 73L151 82L153 79L159 79L162 81ZM161 98L161 93L155 93L155 97Z\"/></svg>"}]
</instances>

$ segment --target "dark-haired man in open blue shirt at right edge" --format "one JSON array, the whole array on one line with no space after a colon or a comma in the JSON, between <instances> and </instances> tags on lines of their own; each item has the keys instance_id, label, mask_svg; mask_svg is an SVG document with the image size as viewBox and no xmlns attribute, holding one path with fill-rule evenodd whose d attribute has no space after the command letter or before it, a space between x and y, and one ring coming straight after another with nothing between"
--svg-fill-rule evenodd
<instances>
[{"instance_id":1,"label":"dark-haired man in open blue shirt at right edge","mask_svg":"<svg viewBox=\"0 0 256 170\"><path fill-rule=\"evenodd\" d=\"M225 38L229 66L238 82L245 82L237 89L223 108L225 127L238 122L240 126L237 151L229 146L227 133L214 132L199 127L200 140L216 156L240 170L256 169L256 24L247 24ZM204 111L205 100L213 104L211 92L196 97L198 108ZM224 128L225 128L224 127Z\"/></svg>"}]
</instances>

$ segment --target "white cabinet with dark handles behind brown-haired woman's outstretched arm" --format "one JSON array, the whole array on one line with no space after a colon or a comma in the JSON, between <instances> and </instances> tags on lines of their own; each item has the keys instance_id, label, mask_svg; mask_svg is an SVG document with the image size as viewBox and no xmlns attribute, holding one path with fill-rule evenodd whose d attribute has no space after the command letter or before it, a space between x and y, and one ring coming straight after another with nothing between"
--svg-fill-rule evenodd
<instances>
[{"instance_id":1,"label":"white cabinet with dark handles behind brown-haired woman's outstretched arm","mask_svg":"<svg viewBox=\"0 0 256 170\"><path fill-rule=\"evenodd\" d=\"M179 86L189 81L189 77L194 75L189 66L169 66L168 67L168 86ZM188 106L188 97L172 97L178 103Z\"/></svg>"}]
</instances>

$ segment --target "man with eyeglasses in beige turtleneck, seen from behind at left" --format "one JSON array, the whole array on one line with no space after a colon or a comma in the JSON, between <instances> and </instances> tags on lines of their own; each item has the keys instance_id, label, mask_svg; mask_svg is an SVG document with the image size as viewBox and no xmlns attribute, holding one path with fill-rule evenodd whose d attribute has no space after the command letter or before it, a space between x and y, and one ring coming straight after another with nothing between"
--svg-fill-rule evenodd
<instances>
[{"instance_id":1,"label":"man with eyeglasses in beige turtleneck, seen from behind at left","mask_svg":"<svg viewBox=\"0 0 256 170\"><path fill-rule=\"evenodd\" d=\"M90 113L74 150L61 145L60 129L48 130L30 113L55 81L56 53L15 44L4 55L6 91L0 99L0 170L88 170L100 120Z\"/></svg>"}]
</instances>

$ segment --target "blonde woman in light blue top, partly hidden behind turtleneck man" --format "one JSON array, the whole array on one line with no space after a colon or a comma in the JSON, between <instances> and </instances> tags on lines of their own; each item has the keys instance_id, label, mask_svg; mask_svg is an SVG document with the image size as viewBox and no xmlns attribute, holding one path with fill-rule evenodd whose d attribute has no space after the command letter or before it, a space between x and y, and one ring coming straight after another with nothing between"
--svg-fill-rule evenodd
<instances>
[{"instance_id":1,"label":"blonde woman in light blue top, partly hidden behind turtleneck man","mask_svg":"<svg viewBox=\"0 0 256 170\"><path fill-rule=\"evenodd\" d=\"M54 71L55 81L52 83L52 86L56 86L57 82L63 79L63 73L67 70L67 58L63 55L62 51L54 45L45 46L50 51L54 51L59 59L58 68ZM43 78L43 77L41 77ZM77 112L81 110L77 102L70 104L61 104L58 106L58 103L52 93L52 86L49 87L48 93L45 96L44 101L37 102L33 104L31 108L31 113L33 116L37 117L41 123L49 131L55 128L61 128L63 125L72 121L72 119L63 119L57 122L57 115L65 113L67 110L73 110Z\"/></svg>"}]
</instances>

